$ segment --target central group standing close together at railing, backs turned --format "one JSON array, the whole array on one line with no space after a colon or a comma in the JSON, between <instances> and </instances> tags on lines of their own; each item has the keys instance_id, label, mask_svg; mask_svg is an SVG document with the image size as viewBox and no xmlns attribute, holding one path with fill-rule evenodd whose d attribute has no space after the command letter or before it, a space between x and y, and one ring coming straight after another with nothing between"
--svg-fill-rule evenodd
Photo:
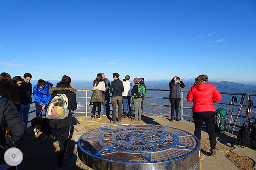
<instances>
[{"instance_id":1,"label":"central group standing close together at railing, backs turned","mask_svg":"<svg viewBox=\"0 0 256 170\"><path fill-rule=\"evenodd\" d=\"M100 119L101 104L103 104L103 115L110 116L110 93L111 104L112 104L112 120L111 123L120 123L121 118L130 116L131 113L131 96L133 96L133 103L135 107L135 118L133 121L141 121L142 104L144 97L139 98L136 96L138 91L138 84L145 87L144 78L134 78L133 90L131 90L130 75L126 75L123 80L120 80L118 73L113 73L113 81L110 83L108 78L105 77L104 73L99 73L96 79L93 80L93 94L91 95L90 103L93 105L92 108L92 119L95 119L96 107L98 108L98 115L96 118ZM123 115L122 115L122 104L123 104ZM118 107L118 117L116 115L116 105Z\"/></svg>"}]
</instances>

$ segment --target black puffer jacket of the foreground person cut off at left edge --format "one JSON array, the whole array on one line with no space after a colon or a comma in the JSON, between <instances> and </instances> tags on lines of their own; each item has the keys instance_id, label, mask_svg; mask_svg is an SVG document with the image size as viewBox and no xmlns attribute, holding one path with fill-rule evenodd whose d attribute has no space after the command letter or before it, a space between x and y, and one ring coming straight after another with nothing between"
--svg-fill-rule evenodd
<instances>
[{"instance_id":1,"label":"black puffer jacket of the foreground person cut off at left edge","mask_svg":"<svg viewBox=\"0 0 256 170\"><path fill-rule=\"evenodd\" d=\"M22 121L15 105L7 98L0 98L0 144L6 149L13 147L12 141L6 135L9 127L10 136L13 141L18 141L25 133L25 123ZM0 164L5 163L3 159L5 150L0 148Z\"/></svg>"}]
</instances>

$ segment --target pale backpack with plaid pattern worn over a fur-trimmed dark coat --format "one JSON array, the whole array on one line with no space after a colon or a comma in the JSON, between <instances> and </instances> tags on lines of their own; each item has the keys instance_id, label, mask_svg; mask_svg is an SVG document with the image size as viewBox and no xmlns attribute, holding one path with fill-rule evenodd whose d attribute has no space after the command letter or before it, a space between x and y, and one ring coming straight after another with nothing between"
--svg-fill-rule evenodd
<instances>
[{"instance_id":1,"label":"pale backpack with plaid pattern worn over a fur-trimmed dark coat","mask_svg":"<svg viewBox=\"0 0 256 170\"><path fill-rule=\"evenodd\" d=\"M68 98L65 94L57 94L47 108L47 119L65 119L68 117Z\"/></svg>"}]
</instances>

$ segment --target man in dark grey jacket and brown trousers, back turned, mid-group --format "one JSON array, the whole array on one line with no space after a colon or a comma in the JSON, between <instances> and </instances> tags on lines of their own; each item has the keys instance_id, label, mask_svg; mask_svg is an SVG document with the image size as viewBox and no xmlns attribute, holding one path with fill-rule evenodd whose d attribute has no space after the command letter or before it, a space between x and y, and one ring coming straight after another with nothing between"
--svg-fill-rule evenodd
<instances>
[{"instance_id":1,"label":"man in dark grey jacket and brown trousers, back turned, mid-group","mask_svg":"<svg viewBox=\"0 0 256 170\"><path fill-rule=\"evenodd\" d=\"M116 123L116 102L118 105L118 122L121 122L122 118L122 103L123 97L122 92L124 91L123 82L118 78L118 73L113 73L114 80L110 84L110 93L112 93L112 120L111 123Z\"/></svg>"}]
</instances>

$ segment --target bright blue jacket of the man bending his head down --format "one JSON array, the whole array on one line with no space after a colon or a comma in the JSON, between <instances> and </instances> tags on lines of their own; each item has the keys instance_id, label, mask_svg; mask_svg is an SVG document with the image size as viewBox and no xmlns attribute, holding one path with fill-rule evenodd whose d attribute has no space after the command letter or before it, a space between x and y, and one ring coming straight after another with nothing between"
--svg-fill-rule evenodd
<instances>
[{"instance_id":1,"label":"bright blue jacket of the man bending his head down","mask_svg":"<svg viewBox=\"0 0 256 170\"><path fill-rule=\"evenodd\" d=\"M48 92L47 92L47 86L49 86ZM45 87L43 88L43 90L40 87L38 87L37 89L37 85L35 85L35 87L33 88L33 96L35 101L37 101L38 103L43 102L43 104L47 106L49 101L51 100L51 96L49 95L49 91L51 88L52 87L47 83L45 83Z\"/></svg>"}]
</instances>

